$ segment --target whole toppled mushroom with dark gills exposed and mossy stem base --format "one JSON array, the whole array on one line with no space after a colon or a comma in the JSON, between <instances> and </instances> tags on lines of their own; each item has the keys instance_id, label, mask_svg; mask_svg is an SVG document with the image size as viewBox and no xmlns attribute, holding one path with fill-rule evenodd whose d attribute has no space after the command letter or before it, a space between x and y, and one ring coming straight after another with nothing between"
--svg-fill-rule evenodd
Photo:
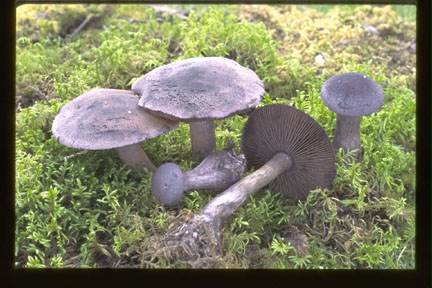
<instances>
[{"instance_id":1,"label":"whole toppled mushroom with dark gills exposed and mossy stem base","mask_svg":"<svg viewBox=\"0 0 432 288\"><path fill-rule=\"evenodd\" d=\"M243 128L241 145L248 165L258 169L216 196L188 224L169 231L158 245L177 249L173 254L187 260L208 257L220 250L221 223L250 195L270 184L274 192L304 200L311 190L328 188L336 174L324 129L294 107L273 104L255 110Z\"/></svg>"}]
</instances>

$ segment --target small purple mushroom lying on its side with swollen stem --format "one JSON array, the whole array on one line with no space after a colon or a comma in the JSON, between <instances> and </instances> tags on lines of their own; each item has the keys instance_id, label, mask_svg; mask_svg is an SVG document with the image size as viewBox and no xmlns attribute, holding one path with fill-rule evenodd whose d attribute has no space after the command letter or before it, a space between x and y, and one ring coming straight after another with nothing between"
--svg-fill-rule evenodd
<instances>
[{"instance_id":1,"label":"small purple mushroom lying on its side with swollen stem","mask_svg":"<svg viewBox=\"0 0 432 288\"><path fill-rule=\"evenodd\" d=\"M217 151L208 155L200 165L182 172L175 163L159 166L152 178L152 192L164 205L177 205L185 191L222 191L238 181L246 169L244 156L232 151Z\"/></svg>"}]
</instances>

